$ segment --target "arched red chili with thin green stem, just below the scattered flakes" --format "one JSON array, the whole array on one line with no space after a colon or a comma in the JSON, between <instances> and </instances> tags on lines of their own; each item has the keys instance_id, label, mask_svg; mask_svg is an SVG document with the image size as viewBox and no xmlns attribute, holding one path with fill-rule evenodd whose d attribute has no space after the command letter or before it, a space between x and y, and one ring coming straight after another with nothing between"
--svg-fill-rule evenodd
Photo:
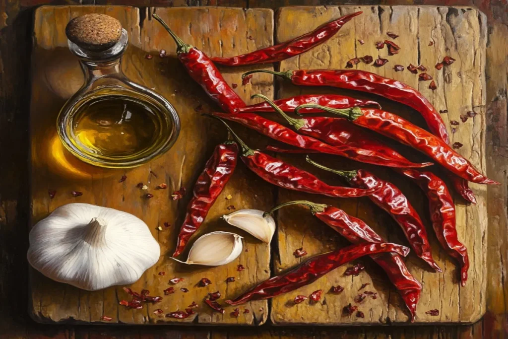
<instances>
[{"instance_id":1,"label":"arched red chili with thin green stem, just below the scattered flakes","mask_svg":"<svg viewBox=\"0 0 508 339\"><path fill-rule=\"evenodd\" d=\"M418 90L403 82L361 70L294 70L285 72L256 70L244 75L258 72L290 79L295 85L332 86L377 94L416 109L424 117L433 134L439 136L446 143L450 142L446 126L436 109Z\"/></svg>"}]
</instances>

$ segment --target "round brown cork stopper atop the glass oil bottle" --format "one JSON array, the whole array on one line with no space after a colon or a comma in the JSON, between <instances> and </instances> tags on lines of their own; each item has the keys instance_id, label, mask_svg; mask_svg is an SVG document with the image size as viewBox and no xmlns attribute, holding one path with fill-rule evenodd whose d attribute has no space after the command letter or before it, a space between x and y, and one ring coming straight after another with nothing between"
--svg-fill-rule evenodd
<instances>
[{"instance_id":1,"label":"round brown cork stopper atop the glass oil bottle","mask_svg":"<svg viewBox=\"0 0 508 339\"><path fill-rule=\"evenodd\" d=\"M83 49L105 51L120 39L120 21L105 14L85 14L69 21L67 38Z\"/></svg>"}]
</instances>

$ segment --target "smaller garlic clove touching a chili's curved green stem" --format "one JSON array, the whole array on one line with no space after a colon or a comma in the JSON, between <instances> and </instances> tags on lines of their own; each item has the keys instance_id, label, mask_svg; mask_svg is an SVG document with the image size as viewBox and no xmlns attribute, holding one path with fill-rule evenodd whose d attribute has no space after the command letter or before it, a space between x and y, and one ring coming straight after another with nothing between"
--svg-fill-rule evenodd
<instances>
[{"instance_id":1,"label":"smaller garlic clove touching a chili's curved green stem","mask_svg":"<svg viewBox=\"0 0 508 339\"><path fill-rule=\"evenodd\" d=\"M275 233L275 221L270 214L263 217L264 213L259 209L240 209L228 215L223 215L223 219L228 224L236 226L266 243L270 243Z\"/></svg>"}]
</instances>

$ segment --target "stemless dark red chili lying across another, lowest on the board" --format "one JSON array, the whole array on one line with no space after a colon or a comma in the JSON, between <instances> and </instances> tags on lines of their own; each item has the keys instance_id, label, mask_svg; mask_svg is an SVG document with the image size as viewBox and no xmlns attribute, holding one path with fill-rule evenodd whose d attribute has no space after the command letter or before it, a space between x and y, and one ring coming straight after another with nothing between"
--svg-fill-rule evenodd
<instances>
[{"instance_id":1,"label":"stemless dark red chili lying across another, lowest on the board","mask_svg":"<svg viewBox=\"0 0 508 339\"><path fill-rule=\"evenodd\" d=\"M406 256L409 249L394 243L361 243L315 256L298 267L281 275L265 280L258 286L226 300L230 305L239 305L251 300L268 299L309 285L335 268L366 255L379 253L397 253Z\"/></svg>"}]
</instances>

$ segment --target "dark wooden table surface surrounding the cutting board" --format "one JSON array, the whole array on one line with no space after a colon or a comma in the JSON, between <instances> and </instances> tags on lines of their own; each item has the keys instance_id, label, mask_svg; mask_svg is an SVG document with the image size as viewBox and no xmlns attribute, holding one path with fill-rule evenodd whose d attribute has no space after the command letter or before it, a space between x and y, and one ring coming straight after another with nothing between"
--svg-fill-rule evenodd
<instances>
[{"instance_id":1,"label":"dark wooden table surface surrounding the cutting board","mask_svg":"<svg viewBox=\"0 0 508 339\"><path fill-rule=\"evenodd\" d=\"M0 338L280 338L508 337L508 3L506 0L383 0L384 5L470 5L488 18L487 42L487 174L500 181L488 190L487 313L468 326L357 327L357 328L192 328L90 327L39 325L27 315L27 227L29 218L28 88L33 13L42 4L131 6L234 6L277 8L289 5L335 5L334 0L2 0L0 2ZM378 4L378 0L348 3Z\"/></svg>"}]
</instances>

